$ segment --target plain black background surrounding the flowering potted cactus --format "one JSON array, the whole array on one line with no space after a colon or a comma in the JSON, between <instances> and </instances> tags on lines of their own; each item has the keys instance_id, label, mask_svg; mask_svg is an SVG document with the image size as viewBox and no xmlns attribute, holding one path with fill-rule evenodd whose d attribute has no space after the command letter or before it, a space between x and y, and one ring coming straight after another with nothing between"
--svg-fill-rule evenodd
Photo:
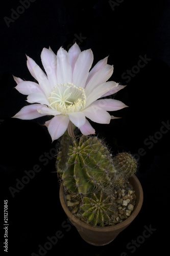
<instances>
[{"instance_id":1,"label":"plain black background surrounding the flowering potted cactus","mask_svg":"<svg viewBox=\"0 0 170 256\"><path fill-rule=\"evenodd\" d=\"M63 238L44 255L168 253L170 2L35 0L27 8L21 2L1 0L1 205L8 200L9 221L8 253L4 254L39 254L39 245L44 246L47 237L55 236L58 230L64 234ZM15 11L19 14L14 14ZM103 247L84 242L75 227L63 227L67 218L59 202L58 178L53 173L54 148L58 143L52 143L41 125L45 118L25 121L11 118L26 104L26 97L14 89L12 75L33 81L26 54L41 67L43 47L50 46L57 53L61 46L68 50L75 41L81 50L91 48L93 65L109 55L108 63L114 65L110 80L127 84L114 95L129 106L112 113L122 118L111 120L109 125L92 125L96 134L106 138L113 152L116 147L135 154L137 177L144 193L142 209L133 223ZM144 56L147 63L136 68ZM136 73L127 78L127 70ZM163 124L167 126L162 130ZM9 188L16 188L17 181L26 176L25 171L35 165L41 168L40 172L12 196ZM1 241L4 242L3 212L2 207ZM156 230L138 243L133 252L127 244L132 240L142 241L140 236L145 226ZM3 243L1 246L3 252Z\"/></svg>"}]
</instances>

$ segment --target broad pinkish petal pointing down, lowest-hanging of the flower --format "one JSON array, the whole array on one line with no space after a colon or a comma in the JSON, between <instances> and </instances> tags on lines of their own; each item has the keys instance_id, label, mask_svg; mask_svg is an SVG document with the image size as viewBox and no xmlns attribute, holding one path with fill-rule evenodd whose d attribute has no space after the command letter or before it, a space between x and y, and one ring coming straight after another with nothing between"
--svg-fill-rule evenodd
<instances>
[{"instance_id":1,"label":"broad pinkish petal pointing down, lowest-hanging of the flower","mask_svg":"<svg viewBox=\"0 0 170 256\"><path fill-rule=\"evenodd\" d=\"M64 115L55 116L50 122L45 123L53 141L57 140L65 133L68 123L69 117Z\"/></svg>"}]
</instances>

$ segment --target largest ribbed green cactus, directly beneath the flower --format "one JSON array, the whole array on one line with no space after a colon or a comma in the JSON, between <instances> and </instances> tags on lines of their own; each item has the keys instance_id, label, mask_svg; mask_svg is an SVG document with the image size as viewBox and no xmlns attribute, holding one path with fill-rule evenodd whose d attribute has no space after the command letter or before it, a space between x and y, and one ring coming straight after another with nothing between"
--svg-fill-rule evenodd
<instances>
[{"instance_id":1,"label":"largest ribbed green cactus, directly beneath the flower","mask_svg":"<svg viewBox=\"0 0 170 256\"><path fill-rule=\"evenodd\" d=\"M64 185L72 192L91 193L111 185L111 176L115 173L111 154L97 137L81 136L69 146L67 169L59 168L60 154L57 159L58 173Z\"/></svg>"}]
</instances>

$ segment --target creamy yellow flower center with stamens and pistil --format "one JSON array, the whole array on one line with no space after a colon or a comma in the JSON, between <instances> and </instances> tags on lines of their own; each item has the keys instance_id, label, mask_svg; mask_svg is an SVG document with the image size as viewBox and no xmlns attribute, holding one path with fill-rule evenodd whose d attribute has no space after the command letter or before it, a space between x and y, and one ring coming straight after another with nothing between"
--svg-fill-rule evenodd
<instances>
[{"instance_id":1,"label":"creamy yellow flower center with stamens and pistil","mask_svg":"<svg viewBox=\"0 0 170 256\"><path fill-rule=\"evenodd\" d=\"M82 111L86 103L86 95L84 88L78 88L73 83L61 83L55 86L48 100L52 109L66 114Z\"/></svg>"}]
</instances>

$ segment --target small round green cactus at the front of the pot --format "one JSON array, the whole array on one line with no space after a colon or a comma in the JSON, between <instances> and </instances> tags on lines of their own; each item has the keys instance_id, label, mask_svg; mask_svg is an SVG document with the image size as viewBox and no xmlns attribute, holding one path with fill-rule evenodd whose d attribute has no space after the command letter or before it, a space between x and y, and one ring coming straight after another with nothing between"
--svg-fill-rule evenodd
<instances>
[{"instance_id":1,"label":"small round green cactus at the front of the pot","mask_svg":"<svg viewBox=\"0 0 170 256\"><path fill-rule=\"evenodd\" d=\"M101 191L83 198L82 220L93 226L104 226L109 222L110 216L114 213L111 209L110 196L104 195Z\"/></svg>"}]
</instances>

